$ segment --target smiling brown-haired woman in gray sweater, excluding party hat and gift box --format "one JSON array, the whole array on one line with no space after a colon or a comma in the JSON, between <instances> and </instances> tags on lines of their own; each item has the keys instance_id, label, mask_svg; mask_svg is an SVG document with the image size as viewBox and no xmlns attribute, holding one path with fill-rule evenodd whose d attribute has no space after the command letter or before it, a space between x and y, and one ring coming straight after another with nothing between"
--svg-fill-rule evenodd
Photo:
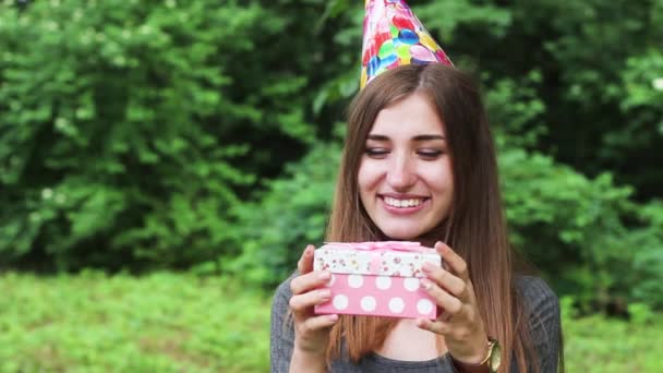
<instances>
[{"instance_id":1,"label":"smiling brown-haired woman in gray sweater, excluding party hat and gift box","mask_svg":"<svg viewBox=\"0 0 663 373\"><path fill-rule=\"evenodd\" d=\"M351 104L327 241L419 241L446 268L422 285L435 321L315 315L328 301L308 246L277 290L273 372L555 372L555 294L517 276L495 152L477 86L441 63L376 76ZM444 243L443 243L444 242ZM492 347L498 341L502 352Z\"/></svg>"}]
</instances>

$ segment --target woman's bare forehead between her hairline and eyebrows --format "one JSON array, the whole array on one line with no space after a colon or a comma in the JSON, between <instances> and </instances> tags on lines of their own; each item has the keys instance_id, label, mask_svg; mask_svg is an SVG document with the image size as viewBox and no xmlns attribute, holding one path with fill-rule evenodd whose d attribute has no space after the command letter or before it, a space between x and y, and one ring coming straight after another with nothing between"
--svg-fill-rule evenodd
<instances>
[{"instance_id":1,"label":"woman's bare forehead between her hairline and eyebrows","mask_svg":"<svg viewBox=\"0 0 663 373\"><path fill-rule=\"evenodd\" d=\"M420 134L444 135L444 125L429 97L414 93L382 109L370 134L408 139Z\"/></svg>"}]
</instances>

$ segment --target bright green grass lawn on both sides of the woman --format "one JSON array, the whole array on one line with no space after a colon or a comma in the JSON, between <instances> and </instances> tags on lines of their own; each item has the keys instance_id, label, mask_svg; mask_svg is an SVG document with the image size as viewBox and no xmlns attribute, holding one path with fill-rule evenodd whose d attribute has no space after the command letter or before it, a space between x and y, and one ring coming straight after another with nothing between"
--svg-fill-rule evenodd
<instances>
[{"instance_id":1,"label":"bright green grass lawn on both sides of the woman","mask_svg":"<svg viewBox=\"0 0 663 373\"><path fill-rule=\"evenodd\" d=\"M0 276L0 372L267 372L269 294L185 274ZM564 317L568 372L661 372L663 317Z\"/></svg>"}]
</instances>

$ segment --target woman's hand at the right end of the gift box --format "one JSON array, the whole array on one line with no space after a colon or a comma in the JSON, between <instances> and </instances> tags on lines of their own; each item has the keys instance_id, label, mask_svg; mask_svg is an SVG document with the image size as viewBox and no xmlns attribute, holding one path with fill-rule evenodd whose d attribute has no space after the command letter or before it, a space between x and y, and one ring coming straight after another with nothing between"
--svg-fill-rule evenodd
<instances>
[{"instance_id":1,"label":"woman's hand at the right end of the gift box","mask_svg":"<svg viewBox=\"0 0 663 373\"><path fill-rule=\"evenodd\" d=\"M477 306L477 297L467 263L442 242L435 250L449 270L426 263L423 272L427 278L421 285L444 312L437 320L418 318L417 325L444 336L451 357L465 363L480 363L487 354L487 335Z\"/></svg>"}]
</instances>

